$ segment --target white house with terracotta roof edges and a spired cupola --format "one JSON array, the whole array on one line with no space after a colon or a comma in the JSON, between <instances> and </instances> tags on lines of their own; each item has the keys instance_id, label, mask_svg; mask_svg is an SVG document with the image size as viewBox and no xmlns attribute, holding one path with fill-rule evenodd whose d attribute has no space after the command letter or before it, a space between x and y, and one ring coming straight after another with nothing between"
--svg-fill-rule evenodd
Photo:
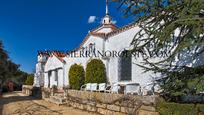
<instances>
[{"instance_id":1,"label":"white house with terracotta roof edges and a spired cupola","mask_svg":"<svg viewBox=\"0 0 204 115\"><path fill-rule=\"evenodd\" d=\"M60 52L38 54L34 85L44 87L57 85L58 88L69 85L70 66L77 63L86 68L89 60L93 58L101 59L105 64L109 84L139 83L145 86L152 83L154 78L159 76L153 72L143 73L142 68L136 65L141 62L141 57L130 56L124 60L123 57L117 56L117 53L132 48L130 44L139 30L136 24L128 24L121 28L114 25L106 5L106 15L101 25L88 33L80 47L74 50L75 53L70 53L72 55ZM83 51L99 51L104 55L83 56L80 54Z\"/></svg>"}]
</instances>

